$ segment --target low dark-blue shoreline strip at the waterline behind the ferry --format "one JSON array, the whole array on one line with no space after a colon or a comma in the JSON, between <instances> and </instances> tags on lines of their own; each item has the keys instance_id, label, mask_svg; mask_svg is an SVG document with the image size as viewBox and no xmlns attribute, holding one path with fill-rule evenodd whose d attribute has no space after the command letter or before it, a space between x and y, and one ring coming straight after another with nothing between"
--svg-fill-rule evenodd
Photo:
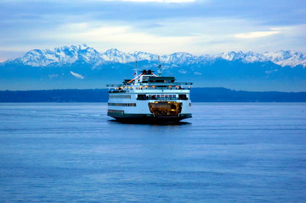
<instances>
[{"instance_id":1,"label":"low dark-blue shoreline strip at the waterline behind the ferry","mask_svg":"<svg viewBox=\"0 0 306 203\"><path fill-rule=\"evenodd\" d=\"M0 102L107 102L108 89L0 91ZM306 92L250 92L221 87L191 89L192 102L306 102Z\"/></svg>"}]
</instances>

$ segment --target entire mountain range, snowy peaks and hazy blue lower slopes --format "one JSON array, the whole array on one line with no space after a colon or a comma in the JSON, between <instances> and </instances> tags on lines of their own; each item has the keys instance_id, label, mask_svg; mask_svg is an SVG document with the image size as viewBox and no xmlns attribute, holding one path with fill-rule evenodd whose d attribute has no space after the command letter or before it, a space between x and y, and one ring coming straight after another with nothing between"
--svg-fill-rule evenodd
<instances>
[{"instance_id":1,"label":"entire mountain range, snowy peaks and hazy blue lower slopes","mask_svg":"<svg viewBox=\"0 0 306 203\"><path fill-rule=\"evenodd\" d=\"M98 52L86 44L34 49L0 63L1 89L101 88L120 83L139 69L155 69L158 55ZM196 86L223 86L243 90L306 90L306 55L292 50L275 52L225 52L195 56L187 52L159 55L164 75Z\"/></svg>"}]
</instances>

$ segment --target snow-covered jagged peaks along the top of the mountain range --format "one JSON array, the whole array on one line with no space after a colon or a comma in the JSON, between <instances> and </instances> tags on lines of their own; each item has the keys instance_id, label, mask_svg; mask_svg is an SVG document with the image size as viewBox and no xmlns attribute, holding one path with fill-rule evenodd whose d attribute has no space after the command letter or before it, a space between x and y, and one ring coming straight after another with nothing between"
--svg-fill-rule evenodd
<instances>
[{"instance_id":1,"label":"snow-covered jagged peaks along the top of the mountain range","mask_svg":"<svg viewBox=\"0 0 306 203\"><path fill-rule=\"evenodd\" d=\"M34 49L27 52L24 56L15 60L7 60L3 63L18 63L22 65L45 67L45 66L61 66L82 62L92 64L92 68L102 64L109 63L128 63L132 61L157 61L158 55L148 52L135 51L133 53L122 52L116 48L111 48L105 52L99 53L94 48L88 47L86 44L62 46L50 49ZM235 61L241 60L244 63L267 62L271 61L282 67L295 67L301 65L306 66L306 55L300 52L275 51L265 53L254 52L226 52L217 55L200 55L194 56L186 52L176 52L168 55L160 55L160 62L169 65L190 65L190 64L207 64L216 60Z\"/></svg>"}]
</instances>

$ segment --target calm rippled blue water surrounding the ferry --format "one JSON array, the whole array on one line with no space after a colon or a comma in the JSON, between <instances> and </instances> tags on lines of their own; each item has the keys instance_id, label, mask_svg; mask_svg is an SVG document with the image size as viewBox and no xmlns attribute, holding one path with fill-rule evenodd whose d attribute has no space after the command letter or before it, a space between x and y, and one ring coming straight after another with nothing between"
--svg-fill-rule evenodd
<instances>
[{"instance_id":1,"label":"calm rippled blue water surrounding the ferry","mask_svg":"<svg viewBox=\"0 0 306 203\"><path fill-rule=\"evenodd\" d=\"M193 103L182 125L104 103L0 104L0 203L306 202L306 103Z\"/></svg>"}]
</instances>

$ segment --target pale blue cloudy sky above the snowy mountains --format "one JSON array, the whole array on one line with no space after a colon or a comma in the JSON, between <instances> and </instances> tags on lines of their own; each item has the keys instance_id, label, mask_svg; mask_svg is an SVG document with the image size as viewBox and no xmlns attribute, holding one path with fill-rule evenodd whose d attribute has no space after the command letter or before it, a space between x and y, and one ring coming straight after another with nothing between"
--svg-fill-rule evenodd
<instances>
[{"instance_id":1,"label":"pale blue cloudy sky above the snowy mountains","mask_svg":"<svg viewBox=\"0 0 306 203\"><path fill-rule=\"evenodd\" d=\"M83 44L103 52L306 53L305 0L0 0L0 61Z\"/></svg>"}]
</instances>

